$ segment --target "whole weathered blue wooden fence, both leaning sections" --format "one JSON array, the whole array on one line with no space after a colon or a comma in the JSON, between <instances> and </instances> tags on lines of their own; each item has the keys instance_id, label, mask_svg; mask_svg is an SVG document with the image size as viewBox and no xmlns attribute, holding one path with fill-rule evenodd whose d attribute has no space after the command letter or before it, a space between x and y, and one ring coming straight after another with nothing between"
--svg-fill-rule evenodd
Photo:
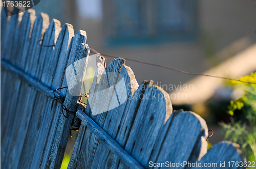
<instances>
[{"instance_id":1,"label":"whole weathered blue wooden fence, both leaning sections","mask_svg":"<svg viewBox=\"0 0 256 169\"><path fill-rule=\"evenodd\" d=\"M47 14L35 16L30 9L7 18L2 10L2 168L60 168L70 127L77 117L82 123L68 168L160 168L166 161L217 163L212 168L220 168L221 161L226 168L243 168L228 167L229 161L245 161L237 144L222 142L207 152L204 119L191 111L173 111L169 95L153 86L153 81L138 85L123 59L112 61L105 72L122 74L128 96L125 102L93 116L90 107L102 109L98 103L116 97L97 96L95 91L110 82L97 83L95 78L91 102L84 112L78 110L82 104L69 90L56 92L69 109L65 118L53 91L67 86L65 70L69 65L89 56L85 43L86 32L74 35L72 25L61 27L58 20L49 21ZM197 168L193 164L175 167Z\"/></svg>"}]
</instances>

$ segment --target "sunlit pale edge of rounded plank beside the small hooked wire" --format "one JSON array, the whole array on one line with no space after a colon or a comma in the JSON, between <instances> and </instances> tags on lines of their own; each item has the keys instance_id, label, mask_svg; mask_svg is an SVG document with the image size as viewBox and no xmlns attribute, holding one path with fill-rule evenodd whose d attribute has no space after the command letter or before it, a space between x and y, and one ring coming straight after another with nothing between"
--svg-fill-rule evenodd
<instances>
[{"instance_id":1,"label":"sunlit pale edge of rounded plank beside the small hooked wire","mask_svg":"<svg viewBox=\"0 0 256 169\"><path fill-rule=\"evenodd\" d=\"M200 148L200 154L198 157L198 161L200 161L201 158L207 153L208 143L206 142L206 138L208 137L208 126L207 126L205 120L201 116L199 116L198 114L196 114L193 111L188 111L188 112L190 112L190 114L194 115L198 119L198 121L200 122L200 124L202 126L200 132L204 130L204 133L205 133L204 137L201 136L201 148Z\"/></svg>"}]
</instances>

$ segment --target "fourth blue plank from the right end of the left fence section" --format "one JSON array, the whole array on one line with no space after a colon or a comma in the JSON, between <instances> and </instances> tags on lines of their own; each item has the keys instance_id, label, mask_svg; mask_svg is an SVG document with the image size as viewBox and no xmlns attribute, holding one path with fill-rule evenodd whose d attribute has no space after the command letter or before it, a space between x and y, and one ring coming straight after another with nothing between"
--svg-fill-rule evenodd
<instances>
[{"instance_id":1,"label":"fourth blue plank from the right end of the left fence section","mask_svg":"<svg viewBox=\"0 0 256 169\"><path fill-rule=\"evenodd\" d=\"M14 15L13 15L14 16ZM17 15L18 16L18 15ZM45 19L44 19L45 18ZM44 21L46 20L46 21ZM49 24L49 17L46 14L39 14L34 22L34 24L31 24L31 26L29 27L30 31L26 32L26 44L30 44L28 45L29 47L34 45L34 42L31 41L31 39L36 38L36 36L33 36L32 38L30 38L30 34L33 32L37 32L37 34L40 35L40 37L44 34L45 29L43 28L43 23L46 22L46 25ZM33 30L31 30L33 27ZM39 30L39 31L38 31ZM38 33L39 32L39 33ZM31 50L29 50L31 51ZM36 53L33 52L26 52L26 50L23 51L23 55L22 55L22 61L24 62L24 64L20 65L21 68L25 69L25 66L27 63L29 63L27 60L28 58L28 54L31 55L36 55ZM9 54L8 54L9 55ZM36 67L36 64L33 64L34 67ZM20 90L22 91L26 91L24 93L24 95L22 95L22 97L24 97L24 99L20 99L20 101L18 102L17 106L19 108L22 109L22 112L20 116L15 116L14 119L14 126L12 127L12 137L10 138L11 142L8 144L8 156L10 157L10 161L8 162L8 166L5 166L5 168L7 167L14 167L16 168L18 166L18 161L16 159L20 158L20 154L22 153L22 149L23 149L23 144L25 142L25 137L26 137L26 133L28 130L28 125L30 122L30 118L32 115L32 110L33 110L33 106L34 106L34 102L36 101L36 97L37 92L35 89L33 88L28 88L26 84L22 83ZM31 99L31 101L30 101ZM36 108L35 108L36 109ZM19 144L17 144L17 142L19 142ZM15 153L14 153L15 152ZM7 164L7 163L6 163Z\"/></svg>"}]
</instances>

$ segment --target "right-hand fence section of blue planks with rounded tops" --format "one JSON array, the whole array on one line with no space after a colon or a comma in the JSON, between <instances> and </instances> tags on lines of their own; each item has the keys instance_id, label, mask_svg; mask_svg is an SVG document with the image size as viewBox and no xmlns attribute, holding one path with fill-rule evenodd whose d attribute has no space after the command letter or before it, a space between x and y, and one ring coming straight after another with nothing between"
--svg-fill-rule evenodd
<instances>
[{"instance_id":1,"label":"right-hand fence section of blue planks with rounded tops","mask_svg":"<svg viewBox=\"0 0 256 169\"><path fill-rule=\"evenodd\" d=\"M93 116L94 109L108 109L112 98L116 97L113 93L97 95L97 91L110 88L121 77L106 77L101 72L100 82L97 82L99 72L96 71L85 111L88 117L80 117L86 126L80 128L69 168L133 168L123 160L125 157L120 158L113 150L113 145L104 143L105 139L101 135L104 132L115 140L117 147L120 146L144 168L152 168L150 161L192 163L207 159L210 162L209 157L219 159L219 156L223 156L223 159L234 156L236 161L244 160L237 158L241 157L241 152L238 148L234 151L232 146L226 147L219 153L221 155L216 155L214 151L207 153L208 128L204 119L191 111L173 112L170 99L163 89L153 86L153 81L144 81L138 86L131 68L125 66L122 59L112 61L105 70L106 74L109 72L122 74L129 97L118 107ZM109 101L105 102L106 99ZM99 134L98 127L104 132Z\"/></svg>"}]
</instances>

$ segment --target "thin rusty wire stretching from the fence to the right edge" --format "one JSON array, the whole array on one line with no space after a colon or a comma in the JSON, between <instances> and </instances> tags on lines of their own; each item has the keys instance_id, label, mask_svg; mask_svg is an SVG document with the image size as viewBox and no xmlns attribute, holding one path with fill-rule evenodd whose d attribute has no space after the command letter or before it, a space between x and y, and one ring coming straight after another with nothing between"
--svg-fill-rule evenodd
<instances>
[{"instance_id":1,"label":"thin rusty wire stretching from the fence to the right edge","mask_svg":"<svg viewBox=\"0 0 256 169\"><path fill-rule=\"evenodd\" d=\"M92 51L93 53L95 53L95 54L99 53L99 52L97 52L96 50L94 50L94 49L92 49L92 48L91 48L91 51ZM105 57L115 58L115 59L119 58L119 57L114 57L114 56L109 55L109 54L103 54L103 53L101 53L101 55L103 55L103 56L105 56ZM226 80L235 80L235 81L240 81L240 82L243 82L243 83L248 83L248 84L254 84L254 85L256 85L256 83L250 82L250 81L243 81L243 80L238 80L238 79L233 79L233 78L228 78L228 77L221 77L221 76L208 75L208 74L190 73L190 72L185 72L185 71L183 71L183 70L175 69L175 68L172 68L172 67L167 67L167 66L163 66L163 65L158 65L158 64L143 62L143 61L139 61L139 60L135 60L135 59L130 59L130 58L122 58L122 59L125 59L125 60L127 60L127 61L138 62L138 63L145 64L145 65L151 65L151 66L156 66L156 67L160 67L160 68L164 68L164 69L169 69L169 70L173 70L173 71L180 72L180 73L183 73L183 74L188 74L188 75L215 77L215 78L221 78L221 79L226 79Z\"/></svg>"}]
</instances>

